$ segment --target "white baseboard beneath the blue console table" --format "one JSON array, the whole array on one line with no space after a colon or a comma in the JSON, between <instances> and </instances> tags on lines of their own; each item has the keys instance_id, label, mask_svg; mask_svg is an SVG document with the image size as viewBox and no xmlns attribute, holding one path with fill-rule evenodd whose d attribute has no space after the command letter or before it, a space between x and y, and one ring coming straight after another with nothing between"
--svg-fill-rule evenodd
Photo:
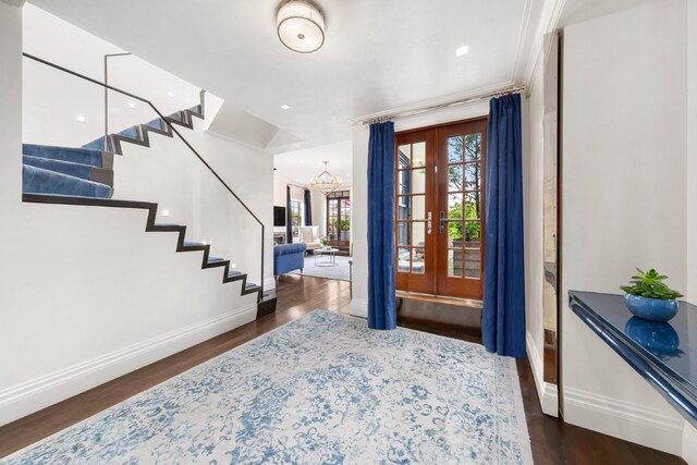
<instances>
[{"instance_id":1,"label":"white baseboard beneath the blue console table","mask_svg":"<svg viewBox=\"0 0 697 465\"><path fill-rule=\"evenodd\" d=\"M683 453L685 421L677 413L564 387L564 419L670 454Z\"/></svg>"}]
</instances>

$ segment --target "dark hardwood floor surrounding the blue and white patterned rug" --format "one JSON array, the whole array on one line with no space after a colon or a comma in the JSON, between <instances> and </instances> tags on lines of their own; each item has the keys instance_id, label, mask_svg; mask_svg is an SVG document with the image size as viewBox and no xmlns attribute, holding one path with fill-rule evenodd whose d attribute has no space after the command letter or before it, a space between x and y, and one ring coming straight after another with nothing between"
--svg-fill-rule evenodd
<instances>
[{"instance_id":1,"label":"dark hardwood floor surrounding the blue and white patterned rug","mask_svg":"<svg viewBox=\"0 0 697 465\"><path fill-rule=\"evenodd\" d=\"M95 415L188 368L281 325L323 308L348 313L348 282L288 274L277 287L276 314L195 345L59 404L0 427L0 457ZM429 331L428 315L400 325ZM477 342L472 328L439 327L429 332ZM676 456L565 424L542 414L527 359L517 363L525 414L536 464L685 464Z\"/></svg>"}]
</instances>

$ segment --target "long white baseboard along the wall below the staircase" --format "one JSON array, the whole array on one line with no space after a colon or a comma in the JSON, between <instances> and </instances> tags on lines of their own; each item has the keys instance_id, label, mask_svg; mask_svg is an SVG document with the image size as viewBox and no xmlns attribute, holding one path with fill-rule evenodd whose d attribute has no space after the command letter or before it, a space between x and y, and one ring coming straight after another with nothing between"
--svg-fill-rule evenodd
<instances>
[{"instance_id":1,"label":"long white baseboard along the wall below the staircase","mask_svg":"<svg viewBox=\"0 0 697 465\"><path fill-rule=\"evenodd\" d=\"M256 304L0 391L0 426L254 321Z\"/></svg>"}]
</instances>

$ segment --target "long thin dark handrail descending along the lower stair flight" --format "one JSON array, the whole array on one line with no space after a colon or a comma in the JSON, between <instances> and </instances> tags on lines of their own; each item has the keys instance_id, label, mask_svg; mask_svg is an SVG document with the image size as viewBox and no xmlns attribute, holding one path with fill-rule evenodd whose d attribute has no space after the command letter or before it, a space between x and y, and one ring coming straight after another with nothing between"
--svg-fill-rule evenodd
<instances>
[{"instance_id":1,"label":"long thin dark handrail descending along the lower stair flight","mask_svg":"<svg viewBox=\"0 0 697 465\"><path fill-rule=\"evenodd\" d=\"M98 86L101 86L105 88L105 91L108 90L113 90L115 93L122 94L124 96L131 97L135 100L142 101L143 103L148 105L152 111L155 111L155 113L157 113L157 115L164 122L164 124L167 124L169 126L169 129L172 131L173 134L176 134L176 136L184 143L184 145L186 145L186 147L196 156L196 158L204 163L204 166L208 169L208 171L210 171L210 173L216 176L216 179L220 182L220 184L222 184L222 186L240 203L240 205L242 205L242 207L247 211L247 213L249 213L252 216L252 218L254 218L254 220L259 224L259 227L261 228L261 250L260 250L260 270L261 270L261 276L259 278L259 286L260 286L260 292L259 292L259 301L261 301L262 296L264 296L264 236L265 236L265 225L261 222L261 220L259 220L259 218L249 209L249 207L247 207L247 205L244 203L244 200L242 200L240 198L240 196L237 196L237 194L235 194L235 192L230 188L230 186L228 185L228 183L225 183L225 181L216 172L216 170L212 169L212 167L210 164L208 164L208 162L206 161L206 159L204 159L204 157L200 156L200 154L198 154L198 151L196 151L196 149L188 143L188 140L186 140L186 138L184 138L184 136L176 130L176 127L174 127L174 125L169 121L169 119L162 113L160 112L160 110L158 110L155 105L152 105L152 102L150 102L149 100L139 97L135 94L131 94L129 91L122 90L120 88L113 87L109 84L106 83L100 83L97 79L94 79L91 77L85 76L84 74L77 73L75 71L69 70L66 68L63 68L61 65L58 65L56 63L51 63L48 60L44 60L41 58L35 57L30 53L22 53L25 58L28 58L29 60L34 60L38 63L45 64L47 66L53 68L56 70L59 70L63 73L68 73L71 74L75 77L80 77L81 79L90 82L93 84L96 84ZM105 58L105 63L106 63L106 58ZM107 124L108 124L108 120L107 120ZM107 146L105 145L105 149L107 149Z\"/></svg>"}]
</instances>

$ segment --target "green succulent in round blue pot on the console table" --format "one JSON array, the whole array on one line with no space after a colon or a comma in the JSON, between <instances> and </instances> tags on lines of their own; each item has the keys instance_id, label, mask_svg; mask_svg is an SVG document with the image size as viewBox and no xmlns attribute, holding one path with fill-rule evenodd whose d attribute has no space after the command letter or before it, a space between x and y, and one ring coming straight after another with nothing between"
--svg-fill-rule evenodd
<instances>
[{"instance_id":1,"label":"green succulent in round blue pot on the console table","mask_svg":"<svg viewBox=\"0 0 697 465\"><path fill-rule=\"evenodd\" d=\"M641 271L632 277L629 285L620 286L626 292L624 302L635 316L651 321L668 321L677 314L677 291L670 289L663 281L667 276L659 274L655 269Z\"/></svg>"}]
</instances>

